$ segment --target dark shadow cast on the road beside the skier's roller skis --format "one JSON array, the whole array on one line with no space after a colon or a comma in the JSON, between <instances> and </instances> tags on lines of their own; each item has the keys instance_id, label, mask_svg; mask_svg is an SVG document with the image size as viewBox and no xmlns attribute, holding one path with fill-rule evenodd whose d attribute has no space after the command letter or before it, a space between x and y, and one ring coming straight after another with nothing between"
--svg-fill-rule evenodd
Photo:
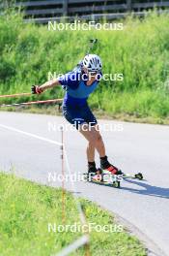
<instances>
[{"instance_id":1,"label":"dark shadow cast on the road beside the skier's roller skis","mask_svg":"<svg viewBox=\"0 0 169 256\"><path fill-rule=\"evenodd\" d=\"M146 196L152 196L152 197L159 197L159 198L166 198L169 199L169 188L163 188L158 186L152 186L148 183L145 183L144 181L137 181L137 180L131 180L131 179L125 179L126 182L131 184L136 184L138 186L141 186L144 189L136 189L136 188L130 188L130 187L123 187L123 190L127 190L131 193L136 193L140 195L146 195Z\"/></svg>"}]
</instances>

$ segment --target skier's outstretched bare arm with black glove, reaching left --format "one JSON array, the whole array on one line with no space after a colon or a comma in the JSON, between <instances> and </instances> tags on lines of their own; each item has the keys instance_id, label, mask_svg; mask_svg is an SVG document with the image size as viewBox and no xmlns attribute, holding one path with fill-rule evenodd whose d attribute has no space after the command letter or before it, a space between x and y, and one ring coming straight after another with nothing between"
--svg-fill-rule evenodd
<instances>
[{"instance_id":1,"label":"skier's outstretched bare arm with black glove, reaching left","mask_svg":"<svg viewBox=\"0 0 169 256\"><path fill-rule=\"evenodd\" d=\"M32 93L33 94L40 94L44 90L49 89L49 88L53 88L53 87L55 87L57 85L61 85L61 83L60 83L60 81L58 79L56 79L56 80L48 80L48 81L44 82L41 86L33 85L32 86Z\"/></svg>"}]
</instances>

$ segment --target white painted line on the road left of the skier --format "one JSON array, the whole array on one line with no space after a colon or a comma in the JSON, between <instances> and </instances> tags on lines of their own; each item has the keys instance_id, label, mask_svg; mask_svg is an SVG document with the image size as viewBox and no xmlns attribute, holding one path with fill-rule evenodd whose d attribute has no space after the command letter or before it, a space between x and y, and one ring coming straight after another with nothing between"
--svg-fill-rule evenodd
<instances>
[{"instance_id":1,"label":"white painted line on the road left of the skier","mask_svg":"<svg viewBox=\"0 0 169 256\"><path fill-rule=\"evenodd\" d=\"M15 129L14 127L11 127L11 126L7 126L7 125L4 125L4 124L0 124L0 127L1 127L1 128L5 128L5 129L10 130L10 131L13 131L13 132L16 132L16 133L23 134L23 135L25 135L25 136L29 136L29 137L32 137L32 138L41 140L41 141L46 142L46 143L49 143L49 144L62 145L61 143L58 143L58 142L49 140L49 139L47 139L47 138L43 138L43 137L41 137L41 136L38 136L38 135L35 135L35 134L32 134L32 133L27 133L27 132L24 132L24 131Z\"/></svg>"}]
</instances>

